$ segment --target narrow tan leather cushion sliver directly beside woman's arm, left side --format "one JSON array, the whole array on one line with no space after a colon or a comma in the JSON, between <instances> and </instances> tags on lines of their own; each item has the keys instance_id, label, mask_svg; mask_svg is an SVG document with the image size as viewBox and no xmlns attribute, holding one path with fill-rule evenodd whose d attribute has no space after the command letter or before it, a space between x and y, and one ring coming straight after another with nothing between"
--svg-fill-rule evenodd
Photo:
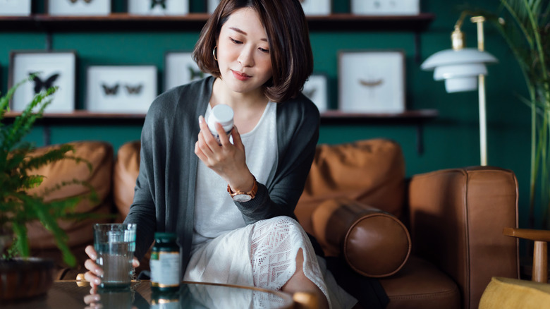
<instances>
[{"instance_id":1,"label":"narrow tan leather cushion sliver directly beside woman's arm, left side","mask_svg":"<svg viewBox=\"0 0 550 309\"><path fill-rule=\"evenodd\" d=\"M139 140L128 142L118 148L113 171L113 200L121 219L126 218L134 199L135 181L140 174Z\"/></svg>"}]
</instances>

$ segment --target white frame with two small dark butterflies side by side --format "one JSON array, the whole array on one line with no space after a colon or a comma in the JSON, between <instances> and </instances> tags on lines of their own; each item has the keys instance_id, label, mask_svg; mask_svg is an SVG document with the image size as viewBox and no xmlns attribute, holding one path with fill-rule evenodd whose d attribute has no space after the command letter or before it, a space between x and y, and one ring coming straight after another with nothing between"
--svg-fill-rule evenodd
<instances>
[{"instance_id":1,"label":"white frame with two small dark butterflies side by side","mask_svg":"<svg viewBox=\"0 0 550 309\"><path fill-rule=\"evenodd\" d=\"M89 66L86 109L96 113L146 114L157 97L157 66Z\"/></svg>"}]
</instances>

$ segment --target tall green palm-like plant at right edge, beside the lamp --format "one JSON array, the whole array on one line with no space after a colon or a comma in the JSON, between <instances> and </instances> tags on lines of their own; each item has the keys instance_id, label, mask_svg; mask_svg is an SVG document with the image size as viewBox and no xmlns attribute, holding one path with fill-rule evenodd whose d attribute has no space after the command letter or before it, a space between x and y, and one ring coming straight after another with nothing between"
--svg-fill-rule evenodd
<instances>
[{"instance_id":1,"label":"tall green palm-like plant at right edge, beside the lamp","mask_svg":"<svg viewBox=\"0 0 550 309\"><path fill-rule=\"evenodd\" d=\"M542 227L550 227L550 1L500 0L493 25L508 43L527 85L520 97L531 109L529 224L537 226L535 204L542 205ZM537 193L537 188L539 192Z\"/></svg>"}]
</instances>

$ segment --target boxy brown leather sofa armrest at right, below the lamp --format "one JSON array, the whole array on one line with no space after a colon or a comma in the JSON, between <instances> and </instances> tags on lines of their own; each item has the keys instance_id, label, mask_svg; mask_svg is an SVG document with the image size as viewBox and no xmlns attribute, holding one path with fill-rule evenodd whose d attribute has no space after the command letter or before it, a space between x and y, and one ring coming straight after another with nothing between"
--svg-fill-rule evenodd
<instances>
[{"instance_id":1,"label":"boxy brown leather sofa armrest at right, below the lamp","mask_svg":"<svg viewBox=\"0 0 550 309\"><path fill-rule=\"evenodd\" d=\"M412 250L458 284L465 308L477 308L491 277L518 277L518 181L489 166L415 175L409 184Z\"/></svg>"}]
</instances>

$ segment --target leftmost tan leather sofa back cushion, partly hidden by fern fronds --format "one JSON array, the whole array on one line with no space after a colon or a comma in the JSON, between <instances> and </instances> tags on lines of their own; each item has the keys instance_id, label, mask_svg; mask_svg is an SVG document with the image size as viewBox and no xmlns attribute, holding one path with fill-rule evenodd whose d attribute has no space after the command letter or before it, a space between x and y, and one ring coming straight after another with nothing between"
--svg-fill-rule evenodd
<instances>
[{"instance_id":1,"label":"leftmost tan leather sofa back cushion, partly hidden by fern fronds","mask_svg":"<svg viewBox=\"0 0 550 309\"><path fill-rule=\"evenodd\" d=\"M64 159L58 162L47 164L39 169L30 171L32 174L45 176L42 184L37 188L28 190L31 194L41 194L44 188L53 188L61 181L72 181L78 179L86 181L96 190L99 198L99 205L94 205L90 200L82 199L75 208L78 213L100 214L103 217L94 219L85 219L82 221L59 221L59 226L66 231L68 235L68 245L71 247L79 246L85 243L93 243L92 225L94 223L111 222L111 170L113 167L113 147L105 142L74 142L71 143L75 148L75 157L86 159L92 164L92 171L88 169L85 163L76 163L71 159ZM44 154L48 150L58 145L39 147L30 155ZM90 193L90 189L80 185L63 186L59 190L54 190L51 194L44 197L44 200L57 200L72 196L85 196ZM27 224L29 243L31 249L35 251L57 248L54 237L49 231L39 224L32 222ZM44 253L48 254L48 253Z\"/></svg>"}]
</instances>

